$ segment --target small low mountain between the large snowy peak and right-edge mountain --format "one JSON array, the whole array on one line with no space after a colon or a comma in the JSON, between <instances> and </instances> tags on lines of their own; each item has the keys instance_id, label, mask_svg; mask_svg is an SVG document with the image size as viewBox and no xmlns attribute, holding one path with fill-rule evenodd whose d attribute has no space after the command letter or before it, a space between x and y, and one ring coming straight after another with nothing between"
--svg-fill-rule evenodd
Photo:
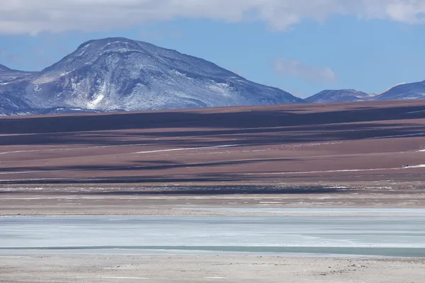
<instances>
[{"instance_id":1,"label":"small low mountain between the large snowy peak and right-edge mountain","mask_svg":"<svg viewBox=\"0 0 425 283\"><path fill-rule=\"evenodd\" d=\"M353 89L321 91L314 96L305 98L307 103L330 103L369 100L373 95Z\"/></svg>"}]
</instances>

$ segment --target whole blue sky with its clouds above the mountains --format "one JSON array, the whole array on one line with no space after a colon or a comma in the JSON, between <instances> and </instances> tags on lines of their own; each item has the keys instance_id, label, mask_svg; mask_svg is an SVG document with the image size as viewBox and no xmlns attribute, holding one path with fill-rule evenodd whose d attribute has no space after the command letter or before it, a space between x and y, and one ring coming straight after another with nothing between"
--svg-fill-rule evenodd
<instances>
[{"instance_id":1,"label":"whole blue sky with its clouds above the mountains","mask_svg":"<svg viewBox=\"0 0 425 283\"><path fill-rule=\"evenodd\" d=\"M0 64L13 69L40 70L86 40L120 36L300 97L339 88L380 93L425 79L422 0L2 1Z\"/></svg>"}]
</instances>

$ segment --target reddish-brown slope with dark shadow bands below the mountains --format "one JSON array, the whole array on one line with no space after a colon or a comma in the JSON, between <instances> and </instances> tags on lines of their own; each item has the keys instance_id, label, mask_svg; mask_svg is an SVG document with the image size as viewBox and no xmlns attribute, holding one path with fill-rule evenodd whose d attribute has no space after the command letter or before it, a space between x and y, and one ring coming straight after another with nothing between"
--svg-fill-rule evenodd
<instances>
[{"instance_id":1,"label":"reddish-brown slope with dark shadow bands below the mountains","mask_svg":"<svg viewBox=\"0 0 425 283\"><path fill-rule=\"evenodd\" d=\"M421 183L425 100L0 119L1 183Z\"/></svg>"}]
</instances>

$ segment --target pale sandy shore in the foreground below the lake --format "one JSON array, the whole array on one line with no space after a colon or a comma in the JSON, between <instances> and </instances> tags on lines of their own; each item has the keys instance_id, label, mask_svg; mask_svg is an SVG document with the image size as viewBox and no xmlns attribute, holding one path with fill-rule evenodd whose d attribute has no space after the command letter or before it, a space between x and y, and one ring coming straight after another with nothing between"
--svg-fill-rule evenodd
<instances>
[{"instance_id":1,"label":"pale sandy shore in the foreground below the lake","mask_svg":"<svg viewBox=\"0 0 425 283\"><path fill-rule=\"evenodd\" d=\"M0 256L0 282L420 283L424 259L224 255Z\"/></svg>"}]
</instances>

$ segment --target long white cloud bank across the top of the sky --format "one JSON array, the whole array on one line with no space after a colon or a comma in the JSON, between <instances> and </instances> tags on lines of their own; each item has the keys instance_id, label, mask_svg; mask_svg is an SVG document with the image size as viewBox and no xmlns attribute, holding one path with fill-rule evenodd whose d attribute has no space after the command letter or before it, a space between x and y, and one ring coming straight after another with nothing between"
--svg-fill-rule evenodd
<instances>
[{"instance_id":1,"label":"long white cloud bank across the top of the sky","mask_svg":"<svg viewBox=\"0 0 425 283\"><path fill-rule=\"evenodd\" d=\"M331 15L425 23L425 0L1 0L0 33L111 30L147 21L264 21L285 30Z\"/></svg>"}]
</instances>

